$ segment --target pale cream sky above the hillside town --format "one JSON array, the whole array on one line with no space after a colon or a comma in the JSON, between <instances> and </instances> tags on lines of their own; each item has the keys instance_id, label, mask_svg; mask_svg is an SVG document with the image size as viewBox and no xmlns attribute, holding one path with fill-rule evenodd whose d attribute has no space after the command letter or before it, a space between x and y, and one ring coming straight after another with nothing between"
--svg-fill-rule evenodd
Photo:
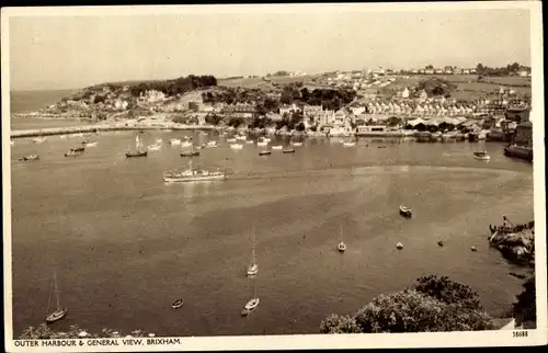
<instances>
[{"instance_id":1,"label":"pale cream sky above the hillside town","mask_svg":"<svg viewBox=\"0 0 548 353\"><path fill-rule=\"evenodd\" d=\"M12 90L432 64L530 66L528 10L10 18Z\"/></svg>"}]
</instances>

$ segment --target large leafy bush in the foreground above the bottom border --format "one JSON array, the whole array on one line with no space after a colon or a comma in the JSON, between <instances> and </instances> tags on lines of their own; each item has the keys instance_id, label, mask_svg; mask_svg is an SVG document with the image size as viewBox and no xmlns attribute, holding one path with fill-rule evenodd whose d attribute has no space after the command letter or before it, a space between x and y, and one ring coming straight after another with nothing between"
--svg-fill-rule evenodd
<instances>
[{"instance_id":1,"label":"large leafy bush in the foreground above the bottom border","mask_svg":"<svg viewBox=\"0 0 548 353\"><path fill-rule=\"evenodd\" d=\"M477 293L448 277L420 277L414 288L383 294L352 316L330 315L322 333L491 330Z\"/></svg>"}]
</instances>

